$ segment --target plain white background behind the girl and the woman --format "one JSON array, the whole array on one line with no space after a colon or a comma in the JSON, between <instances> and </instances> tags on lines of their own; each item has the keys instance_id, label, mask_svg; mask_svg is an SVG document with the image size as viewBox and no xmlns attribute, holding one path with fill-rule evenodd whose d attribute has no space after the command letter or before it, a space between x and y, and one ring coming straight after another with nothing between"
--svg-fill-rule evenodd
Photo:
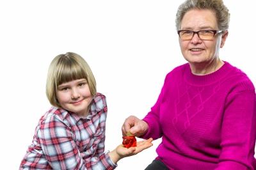
<instances>
[{"instance_id":1,"label":"plain white background behind the girl and the woman","mask_svg":"<svg viewBox=\"0 0 256 170\"><path fill-rule=\"evenodd\" d=\"M253 84L255 2L224 1L230 29L220 58L241 68ZM108 101L106 150L122 143L121 126L143 118L154 105L166 73L186 61L175 31L182 1L1 1L1 169L18 169L38 120L50 105L45 96L48 66L71 51L83 56ZM118 162L116 169L144 169L152 148Z\"/></svg>"}]
</instances>

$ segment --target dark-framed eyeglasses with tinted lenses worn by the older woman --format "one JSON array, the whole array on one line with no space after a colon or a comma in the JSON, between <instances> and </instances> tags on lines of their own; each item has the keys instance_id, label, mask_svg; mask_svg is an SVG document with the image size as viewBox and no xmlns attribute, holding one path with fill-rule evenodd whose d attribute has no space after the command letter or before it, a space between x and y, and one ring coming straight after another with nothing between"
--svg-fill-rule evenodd
<instances>
[{"instance_id":1,"label":"dark-framed eyeglasses with tinted lenses worn by the older woman","mask_svg":"<svg viewBox=\"0 0 256 170\"><path fill-rule=\"evenodd\" d=\"M213 40L215 35L222 33L221 30L199 30L199 31L191 31L191 30L179 30L177 31L178 35L180 36L180 40L192 40L195 34L201 40Z\"/></svg>"}]
</instances>

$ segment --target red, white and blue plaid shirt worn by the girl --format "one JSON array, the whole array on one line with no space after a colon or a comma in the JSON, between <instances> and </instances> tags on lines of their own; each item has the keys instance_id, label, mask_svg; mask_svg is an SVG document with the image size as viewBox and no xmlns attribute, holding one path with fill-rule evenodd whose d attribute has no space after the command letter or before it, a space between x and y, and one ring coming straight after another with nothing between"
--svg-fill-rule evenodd
<instances>
[{"instance_id":1,"label":"red, white and blue plaid shirt worn by the girl","mask_svg":"<svg viewBox=\"0 0 256 170\"><path fill-rule=\"evenodd\" d=\"M115 169L104 153L107 110L100 93L86 118L52 107L40 118L20 169Z\"/></svg>"}]
</instances>

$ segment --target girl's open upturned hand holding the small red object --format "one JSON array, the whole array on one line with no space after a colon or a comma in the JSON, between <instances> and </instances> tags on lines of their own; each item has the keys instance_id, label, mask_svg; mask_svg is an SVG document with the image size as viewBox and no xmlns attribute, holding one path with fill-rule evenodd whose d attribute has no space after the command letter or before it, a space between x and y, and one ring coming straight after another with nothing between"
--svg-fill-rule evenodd
<instances>
[{"instance_id":1,"label":"girl's open upturned hand holding the small red object","mask_svg":"<svg viewBox=\"0 0 256 170\"><path fill-rule=\"evenodd\" d=\"M111 160L113 160L113 162L116 164L121 158L136 155L137 153L140 153L141 151L149 148L150 146L153 146L152 141L152 138L144 141L139 141L137 142L136 147L131 148L125 148L122 144L120 144L115 148L115 150L110 151L108 154Z\"/></svg>"}]
</instances>

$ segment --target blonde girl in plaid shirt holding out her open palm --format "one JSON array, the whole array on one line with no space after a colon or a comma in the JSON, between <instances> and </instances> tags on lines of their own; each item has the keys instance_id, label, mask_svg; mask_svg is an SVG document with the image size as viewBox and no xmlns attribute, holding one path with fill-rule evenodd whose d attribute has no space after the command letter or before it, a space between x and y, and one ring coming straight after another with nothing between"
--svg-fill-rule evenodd
<instances>
[{"instance_id":1,"label":"blonde girl in plaid shirt holding out her open palm","mask_svg":"<svg viewBox=\"0 0 256 170\"><path fill-rule=\"evenodd\" d=\"M152 146L148 139L104 153L106 97L97 93L81 56L67 52L52 60L46 93L52 107L40 118L20 169L115 169L121 158Z\"/></svg>"}]
</instances>

